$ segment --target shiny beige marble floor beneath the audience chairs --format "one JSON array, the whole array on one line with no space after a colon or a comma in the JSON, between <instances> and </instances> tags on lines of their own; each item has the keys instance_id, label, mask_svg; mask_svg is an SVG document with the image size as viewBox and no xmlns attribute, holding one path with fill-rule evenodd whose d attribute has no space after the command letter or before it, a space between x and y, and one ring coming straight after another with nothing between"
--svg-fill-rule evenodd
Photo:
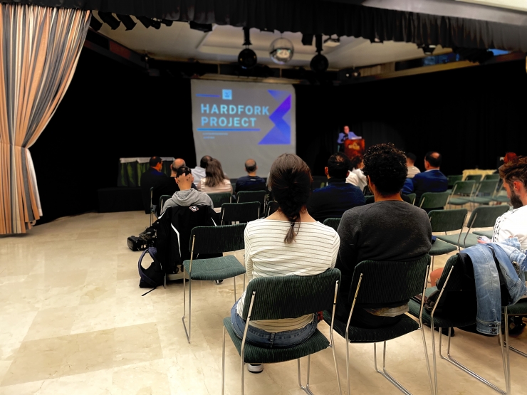
<instances>
[{"instance_id":1,"label":"shiny beige marble floor beneath the audience chairs","mask_svg":"<svg viewBox=\"0 0 527 395\"><path fill-rule=\"evenodd\" d=\"M0 394L221 394L221 320L233 281L194 283L192 343L182 327L182 283L145 296L126 238L147 225L140 212L84 214L0 238ZM241 258L241 253L236 256ZM447 257L437 258L436 267ZM236 281L239 295L242 278ZM319 325L328 335L328 326ZM431 355L430 330L425 328ZM438 339L438 337L437 337ZM504 386L495 338L456 330L452 354ZM511 344L527 350L527 330ZM345 342L335 335L343 390ZM388 342L387 369L413 394L429 394L419 332ZM311 359L311 389L338 394L330 349ZM303 362L303 368L306 364ZM511 353L513 394L527 392L527 359ZM400 394L373 368L372 344L350 346L354 394ZM305 370L303 370L305 377ZM442 394L495 394L438 361ZM226 394L240 394L239 357L226 346ZM246 373L246 394L303 394L296 362Z\"/></svg>"}]
</instances>

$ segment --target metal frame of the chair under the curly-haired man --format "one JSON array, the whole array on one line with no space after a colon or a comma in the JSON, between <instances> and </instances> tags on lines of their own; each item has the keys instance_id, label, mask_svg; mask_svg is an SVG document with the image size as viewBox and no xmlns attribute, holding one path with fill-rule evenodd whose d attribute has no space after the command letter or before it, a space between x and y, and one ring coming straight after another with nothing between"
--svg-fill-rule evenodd
<instances>
[{"instance_id":1,"label":"metal frame of the chair under the curly-haired man","mask_svg":"<svg viewBox=\"0 0 527 395\"><path fill-rule=\"evenodd\" d=\"M427 265L427 273L424 276L424 284L423 284L423 295L424 290L427 289L427 283L428 283L428 275L430 271L430 265ZM360 289L360 283L362 283L362 275L363 273L360 273L360 278L358 280L357 284L357 290L355 290L355 296L353 297L353 303L351 305L350 315L348 317L348 322L346 324L346 379L348 380L348 394L351 394L351 382L350 382L350 337L349 337L349 330L350 330L350 321L351 321L351 315L353 314L353 310L355 308L355 302L357 301L357 296L359 294ZM428 359L428 351L427 351L427 341L424 337L424 326L423 326L423 320L422 320L422 312L424 307L424 297L422 297L421 300L421 310L419 311L419 329L421 330L422 340L423 340L423 347L424 347L424 357L427 360L427 371L428 371L428 380L430 384L430 392L432 395L434 395L433 387L432 387L432 376L430 374L430 362ZM390 381L397 389L399 389L403 394L406 395L412 395L411 392L409 392L402 384L400 384L399 381L393 378L392 375L390 375L386 370L386 341L384 342L384 348L382 350L382 371L380 369L377 369L377 343L373 343L373 361L375 364L375 371L379 374L381 374L385 379Z\"/></svg>"}]
</instances>

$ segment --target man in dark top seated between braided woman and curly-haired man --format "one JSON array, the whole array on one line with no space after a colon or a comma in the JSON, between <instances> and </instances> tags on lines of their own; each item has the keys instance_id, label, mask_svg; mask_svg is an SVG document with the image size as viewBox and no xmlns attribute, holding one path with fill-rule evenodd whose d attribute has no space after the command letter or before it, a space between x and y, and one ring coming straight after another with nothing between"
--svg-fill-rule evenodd
<instances>
[{"instance_id":1,"label":"man in dark top seated between braided woman and curly-haired man","mask_svg":"<svg viewBox=\"0 0 527 395\"><path fill-rule=\"evenodd\" d=\"M315 189L307 205L309 215L316 221L340 218L344 211L364 204L364 195L358 186L346 183L349 169L350 159L345 154L338 152L328 159L328 166L324 169L328 186Z\"/></svg>"}]
</instances>

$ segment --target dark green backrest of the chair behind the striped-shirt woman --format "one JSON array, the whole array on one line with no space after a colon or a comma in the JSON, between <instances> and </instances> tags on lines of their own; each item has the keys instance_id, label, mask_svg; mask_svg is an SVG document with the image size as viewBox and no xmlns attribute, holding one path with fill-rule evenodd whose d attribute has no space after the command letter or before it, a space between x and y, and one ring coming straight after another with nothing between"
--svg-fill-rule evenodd
<instances>
[{"instance_id":1,"label":"dark green backrest of the chair behind the striped-shirt woman","mask_svg":"<svg viewBox=\"0 0 527 395\"><path fill-rule=\"evenodd\" d=\"M242 318L247 320L253 292L256 294L251 320L280 320L331 311L338 280L338 269L328 269L318 275L253 278L247 285Z\"/></svg>"}]
</instances>

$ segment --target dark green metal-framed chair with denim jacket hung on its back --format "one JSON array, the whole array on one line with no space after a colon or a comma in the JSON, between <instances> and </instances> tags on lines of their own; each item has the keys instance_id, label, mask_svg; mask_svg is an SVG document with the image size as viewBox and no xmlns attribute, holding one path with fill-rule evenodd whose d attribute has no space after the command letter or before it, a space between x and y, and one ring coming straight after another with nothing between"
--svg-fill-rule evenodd
<instances>
[{"instance_id":1,"label":"dark green metal-framed chair with denim jacket hung on its back","mask_svg":"<svg viewBox=\"0 0 527 395\"><path fill-rule=\"evenodd\" d=\"M465 274L466 268L463 267L461 258L456 254L447 260L447 264L444 266L441 278L437 280L437 287L428 288L425 295L429 296L434 293L435 290L440 290L437 302L431 312L428 310L422 310L422 303L415 300L410 300L408 303L409 313L414 317L419 317L422 313L422 320L430 325L432 328L432 360L434 366L434 394L438 395L437 391L437 364L436 364L436 352L435 352L435 333L434 327L439 327L439 334L441 334L442 328L449 328L448 345L447 345L447 357L444 357L441 353L442 337L439 335L439 357L447 360L459 367L459 369L470 374L474 378L478 379L482 383L491 387L500 394L510 394L509 391L503 391L497 386L487 381L478 374L472 372L469 368L457 362L450 356L450 339L451 339L451 328L453 327L466 327L474 325L476 323L477 313L477 302L476 302L476 285L473 279ZM424 299L424 298L423 298ZM437 308L437 307L440 307ZM437 309L437 311L436 311ZM500 344L503 344L503 336L501 330L498 330ZM506 355L502 349L501 357L503 360L503 372L506 379L506 388L510 388L510 380L507 380L508 367L506 365Z\"/></svg>"}]
</instances>

